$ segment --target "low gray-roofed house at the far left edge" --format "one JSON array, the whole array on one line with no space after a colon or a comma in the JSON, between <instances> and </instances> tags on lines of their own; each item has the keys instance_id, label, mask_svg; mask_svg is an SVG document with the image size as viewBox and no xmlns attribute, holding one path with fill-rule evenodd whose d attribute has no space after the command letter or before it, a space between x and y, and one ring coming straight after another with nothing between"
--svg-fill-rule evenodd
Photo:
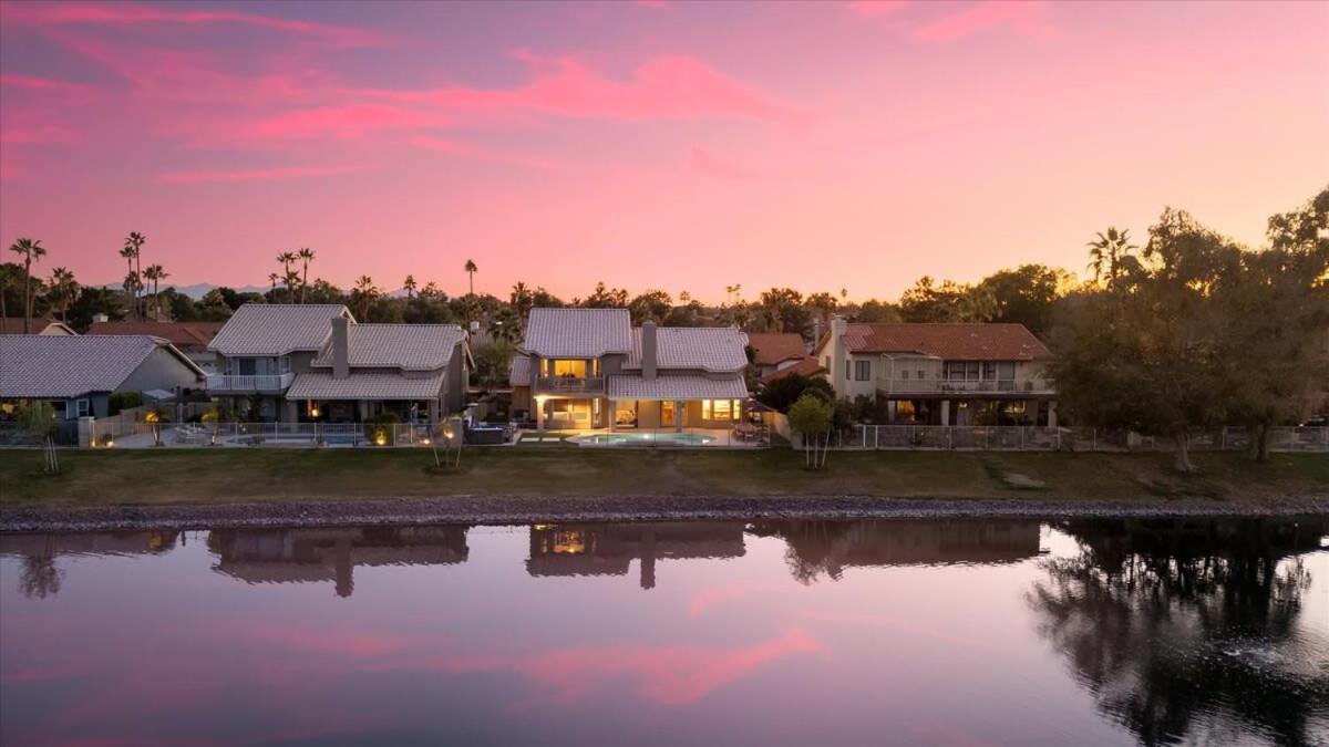
<instances>
[{"instance_id":1,"label":"low gray-roofed house at the far left edge","mask_svg":"<svg viewBox=\"0 0 1329 747\"><path fill-rule=\"evenodd\" d=\"M162 338L0 338L0 409L48 401L58 420L106 417L116 392L186 393L202 388L203 379L203 371Z\"/></svg>"}]
</instances>

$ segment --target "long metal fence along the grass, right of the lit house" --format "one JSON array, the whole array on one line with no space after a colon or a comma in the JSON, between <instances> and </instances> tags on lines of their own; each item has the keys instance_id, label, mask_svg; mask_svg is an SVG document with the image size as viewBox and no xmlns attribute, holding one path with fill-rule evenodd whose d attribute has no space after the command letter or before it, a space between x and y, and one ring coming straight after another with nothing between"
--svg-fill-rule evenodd
<instances>
[{"instance_id":1,"label":"long metal fence along the grass, right of the lit house","mask_svg":"<svg viewBox=\"0 0 1329 747\"><path fill-rule=\"evenodd\" d=\"M1252 429L1213 428L1191 432L1187 445L1195 451L1244 451L1253 439ZM1175 444L1102 428L853 425L832 436L831 448L1120 452L1172 451ZM1329 428L1271 428L1269 451L1329 452Z\"/></svg>"}]
</instances>

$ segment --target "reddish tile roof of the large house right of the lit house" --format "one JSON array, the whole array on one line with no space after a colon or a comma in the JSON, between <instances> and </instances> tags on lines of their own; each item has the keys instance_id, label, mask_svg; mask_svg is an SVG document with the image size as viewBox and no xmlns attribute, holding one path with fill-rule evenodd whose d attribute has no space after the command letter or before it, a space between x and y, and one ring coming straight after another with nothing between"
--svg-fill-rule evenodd
<instances>
[{"instance_id":1,"label":"reddish tile roof of the large house right of the lit house","mask_svg":"<svg viewBox=\"0 0 1329 747\"><path fill-rule=\"evenodd\" d=\"M922 354L945 360L1038 360L1051 358L1023 324L849 324L849 352Z\"/></svg>"}]
</instances>

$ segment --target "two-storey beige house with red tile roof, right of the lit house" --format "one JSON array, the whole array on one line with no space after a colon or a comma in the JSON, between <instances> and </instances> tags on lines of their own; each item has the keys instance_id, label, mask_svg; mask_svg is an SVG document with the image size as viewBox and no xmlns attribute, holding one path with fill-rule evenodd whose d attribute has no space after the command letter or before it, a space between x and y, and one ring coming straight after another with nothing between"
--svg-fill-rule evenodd
<instances>
[{"instance_id":1,"label":"two-storey beige house with red tile roof, right of the lit house","mask_svg":"<svg viewBox=\"0 0 1329 747\"><path fill-rule=\"evenodd\" d=\"M874 397L892 423L1057 425L1051 352L1023 324L849 324L813 355L836 396Z\"/></svg>"}]
</instances>

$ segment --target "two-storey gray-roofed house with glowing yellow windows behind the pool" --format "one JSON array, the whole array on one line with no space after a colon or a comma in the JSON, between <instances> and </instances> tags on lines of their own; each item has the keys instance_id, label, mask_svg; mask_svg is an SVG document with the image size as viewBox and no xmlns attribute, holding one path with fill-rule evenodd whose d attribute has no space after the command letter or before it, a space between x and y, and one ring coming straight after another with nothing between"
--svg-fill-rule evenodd
<instances>
[{"instance_id":1,"label":"two-storey gray-roofed house with glowing yellow windows behind the pool","mask_svg":"<svg viewBox=\"0 0 1329 747\"><path fill-rule=\"evenodd\" d=\"M534 308L512 366L513 408L545 428L728 428L747 400L747 335L633 328L626 308Z\"/></svg>"}]
</instances>

